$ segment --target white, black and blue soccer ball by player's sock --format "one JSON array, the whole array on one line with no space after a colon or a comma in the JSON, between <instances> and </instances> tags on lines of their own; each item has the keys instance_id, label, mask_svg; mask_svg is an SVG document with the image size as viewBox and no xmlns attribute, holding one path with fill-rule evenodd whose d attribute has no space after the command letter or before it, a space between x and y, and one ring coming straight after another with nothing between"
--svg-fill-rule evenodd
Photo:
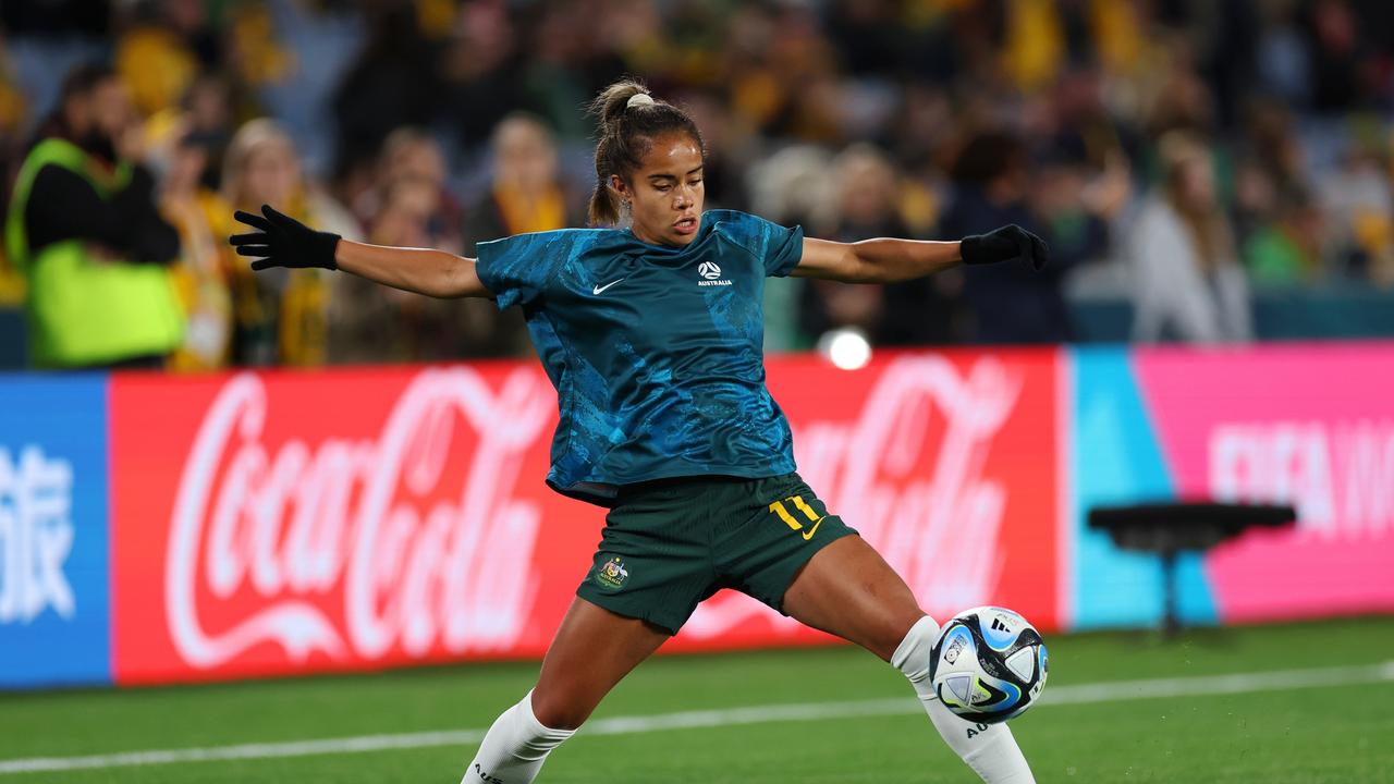
<instances>
[{"instance_id":1,"label":"white, black and blue soccer ball by player's sock","mask_svg":"<svg viewBox=\"0 0 1394 784\"><path fill-rule=\"evenodd\" d=\"M944 704L967 721L994 724L1020 716L1046 686L1040 632L1001 607L974 607L940 631L930 682Z\"/></svg>"}]
</instances>

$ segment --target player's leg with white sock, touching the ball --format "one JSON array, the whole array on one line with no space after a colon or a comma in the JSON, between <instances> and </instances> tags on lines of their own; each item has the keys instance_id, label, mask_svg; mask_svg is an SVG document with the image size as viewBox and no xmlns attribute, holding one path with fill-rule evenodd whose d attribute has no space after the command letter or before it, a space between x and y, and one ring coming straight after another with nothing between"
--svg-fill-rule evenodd
<instances>
[{"instance_id":1,"label":"player's leg with white sock, touching the ball","mask_svg":"<svg viewBox=\"0 0 1394 784\"><path fill-rule=\"evenodd\" d=\"M910 587L866 540L848 536L820 550L785 591L783 611L860 644L905 672L934 728L983 781L1034 781L1005 724L970 724L934 695L930 649L938 624L920 610Z\"/></svg>"}]
</instances>

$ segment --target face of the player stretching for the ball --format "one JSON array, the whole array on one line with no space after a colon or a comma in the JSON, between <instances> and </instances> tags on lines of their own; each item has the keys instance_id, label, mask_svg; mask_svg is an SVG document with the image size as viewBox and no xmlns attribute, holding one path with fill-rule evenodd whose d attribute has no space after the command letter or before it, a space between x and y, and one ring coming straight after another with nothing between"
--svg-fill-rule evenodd
<instances>
[{"instance_id":1,"label":"face of the player stretching for the ball","mask_svg":"<svg viewBox=\"0 0 1394 784\"><path fill-rule=\"evenodd\" d=\"M697 236L707 191L701 146L689 134L658 137L627 181L615 177L611 184L629 201L634 236L640 240L686 246Z\"/></svg>"}]
</instances>

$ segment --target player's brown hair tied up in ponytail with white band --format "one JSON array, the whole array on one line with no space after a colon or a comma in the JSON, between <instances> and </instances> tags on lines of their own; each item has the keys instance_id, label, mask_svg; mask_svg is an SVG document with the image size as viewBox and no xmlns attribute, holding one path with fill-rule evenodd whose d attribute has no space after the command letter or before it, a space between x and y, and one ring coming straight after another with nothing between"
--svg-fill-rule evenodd
<instances>
[{"instance_id":1,"label":"player's brown hair tied up in ponytail with white band","mask_svg":"<svg viewBox=\"0 0 1394 784\"><path fill-rule=\"evenodd\" d=\"M682 109L655 100L648 88L634 80L618 81L602 89L591 102L598 120L595 144L595 191L591 193L591 226L615 226L620 205L611 188L611 176L627 177L640 166L655 138L666 133L686 133L707 153L701 131Z\"/></svg>"}]
</instances>

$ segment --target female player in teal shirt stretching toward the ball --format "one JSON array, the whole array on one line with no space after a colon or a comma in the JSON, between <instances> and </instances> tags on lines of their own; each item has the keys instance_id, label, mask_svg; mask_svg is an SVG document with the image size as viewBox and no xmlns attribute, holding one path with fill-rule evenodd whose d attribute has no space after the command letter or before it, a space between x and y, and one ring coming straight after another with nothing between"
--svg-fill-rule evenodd
<instances>
[{"instance_id":1,"label":"female player in teal shirt stretching toward the ball","mask_svg":"<svg viewBox=\"0 0 1394 784\"><path fill-rule=\"evenodd\" d=\"M546 483L609 508L537 686L493 723L463 784L533 781L615 684L722 587L889 661L984 781L1032 781L1005 724L984 730L940 703L928 678L938 624L795 473L789 424L765 389L761 293L768 275L888 283L959 262L1039 269L1044 243L1016 226L952 243L831 243L703 212L703 138L686 113L627 81L592 110L590 219L604 227L482 243L471 259L340 240L262 206L238 212L256 230L231 237L258 257L254 269L323 266L520 306L560 406Z\"/></svg>"}]
</instances>

